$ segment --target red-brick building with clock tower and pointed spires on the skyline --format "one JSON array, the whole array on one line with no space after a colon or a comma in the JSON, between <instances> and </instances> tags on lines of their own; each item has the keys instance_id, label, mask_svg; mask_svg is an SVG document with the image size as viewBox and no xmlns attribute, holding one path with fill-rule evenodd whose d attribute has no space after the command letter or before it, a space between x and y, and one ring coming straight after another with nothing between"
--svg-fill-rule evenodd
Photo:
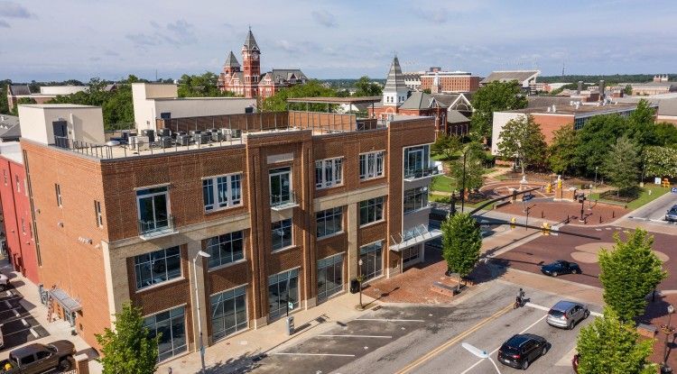
<instances>
[{"instance_id":1,"label":"red-brick building with clock tower and pointed spires on the skyline","mask_svg":"<svg viewBox=\"0 0 677 374\"><path fill-rule=\"evenodd\" d=\"M221 91L248 98L269 97L280 88L303 84L306 80L308 78L298 68L274 68L262 74L261 50L250 28L242 46L242 65L231 50L223 64L223 71L218 75L218 87Z\"/></svg>"}]
</instances>

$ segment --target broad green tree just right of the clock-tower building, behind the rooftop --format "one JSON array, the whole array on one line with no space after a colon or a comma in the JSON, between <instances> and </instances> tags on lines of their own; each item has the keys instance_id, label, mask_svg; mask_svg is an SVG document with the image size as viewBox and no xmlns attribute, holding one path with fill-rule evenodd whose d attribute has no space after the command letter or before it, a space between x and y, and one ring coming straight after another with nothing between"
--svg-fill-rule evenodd
<instances>
[{"instance_id":1,"label":"broad green tree just right of the clock-tower building, behind the rooftop","mask_svg":"<svg viewBox=\"0 0 677 374\"><path fill-rule=\"evenodd\" d=\"M305 110L305 104L291 103L287 106L287 99L290 97L336 97L337 91L334 88L325 87L317 79L311 79L303 85L286 87L275 92L274 96L266 97L259 106L262 112L280 112L287 110ZM311 104L308 109L316 112L326 112L327 105ZM331 109L331 107L329 107Z\"/></svg>"}]
</instances>

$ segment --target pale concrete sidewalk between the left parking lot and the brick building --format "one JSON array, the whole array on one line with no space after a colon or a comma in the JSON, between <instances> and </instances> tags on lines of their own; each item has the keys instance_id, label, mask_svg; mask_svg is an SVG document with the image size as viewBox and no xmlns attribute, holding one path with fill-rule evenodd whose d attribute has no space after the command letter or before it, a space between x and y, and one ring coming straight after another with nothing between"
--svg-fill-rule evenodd
<instances>
[{"instance_id":1,"label":"pale concrete sidewalk between the left parking lot and the brick building","mask_svg":"<svg viewBox=\"0 0 677 374\"><path fill-rule=\"evenodd\" d=\"M72 335L70 332L73 330L73 327L70 326L66 321L56 320L54 322L47 321L47 307L42 306L40 302L40 296L38 294L38 286L33 284L32 281L28 278L23 278L21 273L17 273L12 269L12 266L5 259L0 260L0 270L7 277L10 278L14 289L18 291L22 296L22 300L19 302L27 311L31 314L35 320L50 333L49 336L36 339L32 342L54 342L58 340L68 340L75 344L75 349L77 355L87 354L89 358L89 373L90 374L100 374L102 372L101 364L95 358L96 352L88 345L87 342L82 340L79 335ZM18 348L18 347L17 347ZM0 352L0 360L5 360L9 357L9 352L11 350L6 350Z\"/></svg>"}]
</instances>

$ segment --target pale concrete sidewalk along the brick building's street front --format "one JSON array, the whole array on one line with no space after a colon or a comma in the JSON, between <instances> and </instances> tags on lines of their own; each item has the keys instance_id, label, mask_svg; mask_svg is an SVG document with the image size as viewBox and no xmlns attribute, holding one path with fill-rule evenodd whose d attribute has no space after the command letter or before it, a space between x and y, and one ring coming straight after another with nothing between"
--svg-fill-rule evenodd
<instances>
[{"instance_id":1,"label":"pale concrete sidewalk along the brick building's street front","mask_svg":"<svg viewBox=\"0 0 677 374\"><path fill-rule=\"evenodd\" d=\"M377 305L373 298L366 295L362 296L362 300L368 308ZM359 295L347 292L330 298L319 306L293 313L296 333L292 336L287 335L286 321L282 318L258 330L247 330L217 342L205 349L207 373L243 372L264 353L283 350L368 312L368 309L363 312L357 311L355 308L357 304ZM193 351L162 363L156 372L197 373L199 370L199 351Z\"/></svg>"}]
</instances>

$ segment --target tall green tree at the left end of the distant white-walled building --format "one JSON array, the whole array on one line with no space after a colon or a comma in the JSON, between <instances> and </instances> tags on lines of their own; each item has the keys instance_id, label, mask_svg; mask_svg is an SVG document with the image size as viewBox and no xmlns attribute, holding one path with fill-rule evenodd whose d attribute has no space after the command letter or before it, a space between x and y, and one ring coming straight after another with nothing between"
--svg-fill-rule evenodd
<instances>
[{"instance_id":1,"label":"tall green tree at the left end of the distant white-walled building","mask_svg":"<svg viewBox=\"0 0 677 374\"><path fill-rule=\"evenodd\" d=\"M472 132L479 138L491 141L491 129L494 112L515 110L526 107L526 97L517 81L491 82L480 87L472 96L472 107L475 109L470 118Z\"/></svg>"}]
</instances>

